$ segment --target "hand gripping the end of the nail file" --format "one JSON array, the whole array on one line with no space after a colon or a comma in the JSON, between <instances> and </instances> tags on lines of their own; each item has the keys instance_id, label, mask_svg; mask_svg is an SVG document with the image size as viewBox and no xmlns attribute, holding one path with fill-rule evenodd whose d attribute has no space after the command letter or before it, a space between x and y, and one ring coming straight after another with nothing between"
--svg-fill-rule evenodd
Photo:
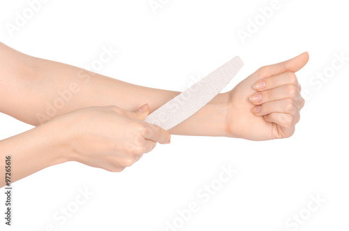
<instances>
[{"instance_id":1,"label":"hand gripping the end of the nail file","mask_svg":"<svg viewBox=\"0 0 349 231\"><path fill-rule=\"evenodd\" d=\"M42 126L53 126L68 148L70 161L121 172L154 149L156 142L170 142L168 131L142 121L149 112L148 105L137 112L117 106L86 107Z\"/></svg>"}]
</instances>

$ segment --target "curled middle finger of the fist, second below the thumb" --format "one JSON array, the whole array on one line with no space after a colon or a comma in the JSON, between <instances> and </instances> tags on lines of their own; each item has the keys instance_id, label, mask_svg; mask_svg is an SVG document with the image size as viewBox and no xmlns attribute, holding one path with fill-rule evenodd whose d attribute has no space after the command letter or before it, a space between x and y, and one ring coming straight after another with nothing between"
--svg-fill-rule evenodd
<instances>
[{"instance_id":1,"label":"curled middle finger of the fist, second below the thumb","mask_svg":"<svg viewBox=\"0 0 349 231\"><path fill-rule=\"evenodd\" d=\"M251 95L249 99L253 104L261 105L263 103L281 100L283 98L291 98L294 100L299 110L304 106L304 99L302 98L299 89L297 89L293 84L286 84L281 87L276 87L275 89L257 92Z\"/></svg>"}]
</instances>

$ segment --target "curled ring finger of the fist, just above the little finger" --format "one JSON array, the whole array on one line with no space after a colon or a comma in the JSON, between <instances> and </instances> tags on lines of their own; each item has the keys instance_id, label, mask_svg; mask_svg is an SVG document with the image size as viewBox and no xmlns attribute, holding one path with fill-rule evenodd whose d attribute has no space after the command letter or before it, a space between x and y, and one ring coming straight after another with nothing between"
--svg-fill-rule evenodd
<instances>
[{"instance_id":1,"label":"curled ring finger of the fist, just above the little finger","mask_svg":"<svg viewBox=\"0 0 349 231\"><path fill-rule=\"evenodd\" d=\"M265 116L271 113L290 114L295 123L300 119L299 110L295 102L291 99L283 99L278 101L268 102L262 105L252 107L251 111L257 116Z\"/></svg>"}]
</instances>

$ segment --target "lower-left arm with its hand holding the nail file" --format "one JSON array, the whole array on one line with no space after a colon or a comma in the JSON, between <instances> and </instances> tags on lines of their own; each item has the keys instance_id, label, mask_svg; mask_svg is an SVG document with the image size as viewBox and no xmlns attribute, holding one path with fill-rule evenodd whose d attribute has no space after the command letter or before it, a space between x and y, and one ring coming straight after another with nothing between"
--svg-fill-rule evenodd
<instances>
[{"instance_id":1,"label":"lower-left arm with its hand holding the nail file","mask_svg":"<svg viewBox=\"0 0 349 231\"><path fill-rule=\"evenodd\" d=\"M154 149L156 142L170 143L167 131L142 121L148 114L147 105L135 112L116 106L86 107L1 140L0 188L6 184L6 156L11 157L11 183L67 161L121 172Z\"/></svg>"}]
</instances>

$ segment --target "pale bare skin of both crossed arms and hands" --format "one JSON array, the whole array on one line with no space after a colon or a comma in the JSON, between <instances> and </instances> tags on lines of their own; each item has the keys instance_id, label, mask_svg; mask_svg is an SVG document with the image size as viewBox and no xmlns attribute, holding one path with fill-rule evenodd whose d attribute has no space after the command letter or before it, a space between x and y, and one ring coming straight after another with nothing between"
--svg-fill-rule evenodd
<instances>
[{"instance_id":1,"label":"pale bare skin of both crossed arms and hands","mask_svg":"<svg viewBox=\"0 0 349 231\"><path fill-rule=\"evenodd\" d=\"M0 112L36 126L0 141L0 176L5 176L6 156L12 159L14 182L67 161L120 172L156 143L169 143L170 134L247 140L290 137L304 106L295 73L308 60L305 52L263 66L164 131L144 119L179 92L129 84L31 57L0 43ZM64 105L47 114L49 105L61 97L59 92L67 90L72 90L71 97L66 94ZM2 186L4 177L0 177Z\"/></svg>"}]
</instances>

